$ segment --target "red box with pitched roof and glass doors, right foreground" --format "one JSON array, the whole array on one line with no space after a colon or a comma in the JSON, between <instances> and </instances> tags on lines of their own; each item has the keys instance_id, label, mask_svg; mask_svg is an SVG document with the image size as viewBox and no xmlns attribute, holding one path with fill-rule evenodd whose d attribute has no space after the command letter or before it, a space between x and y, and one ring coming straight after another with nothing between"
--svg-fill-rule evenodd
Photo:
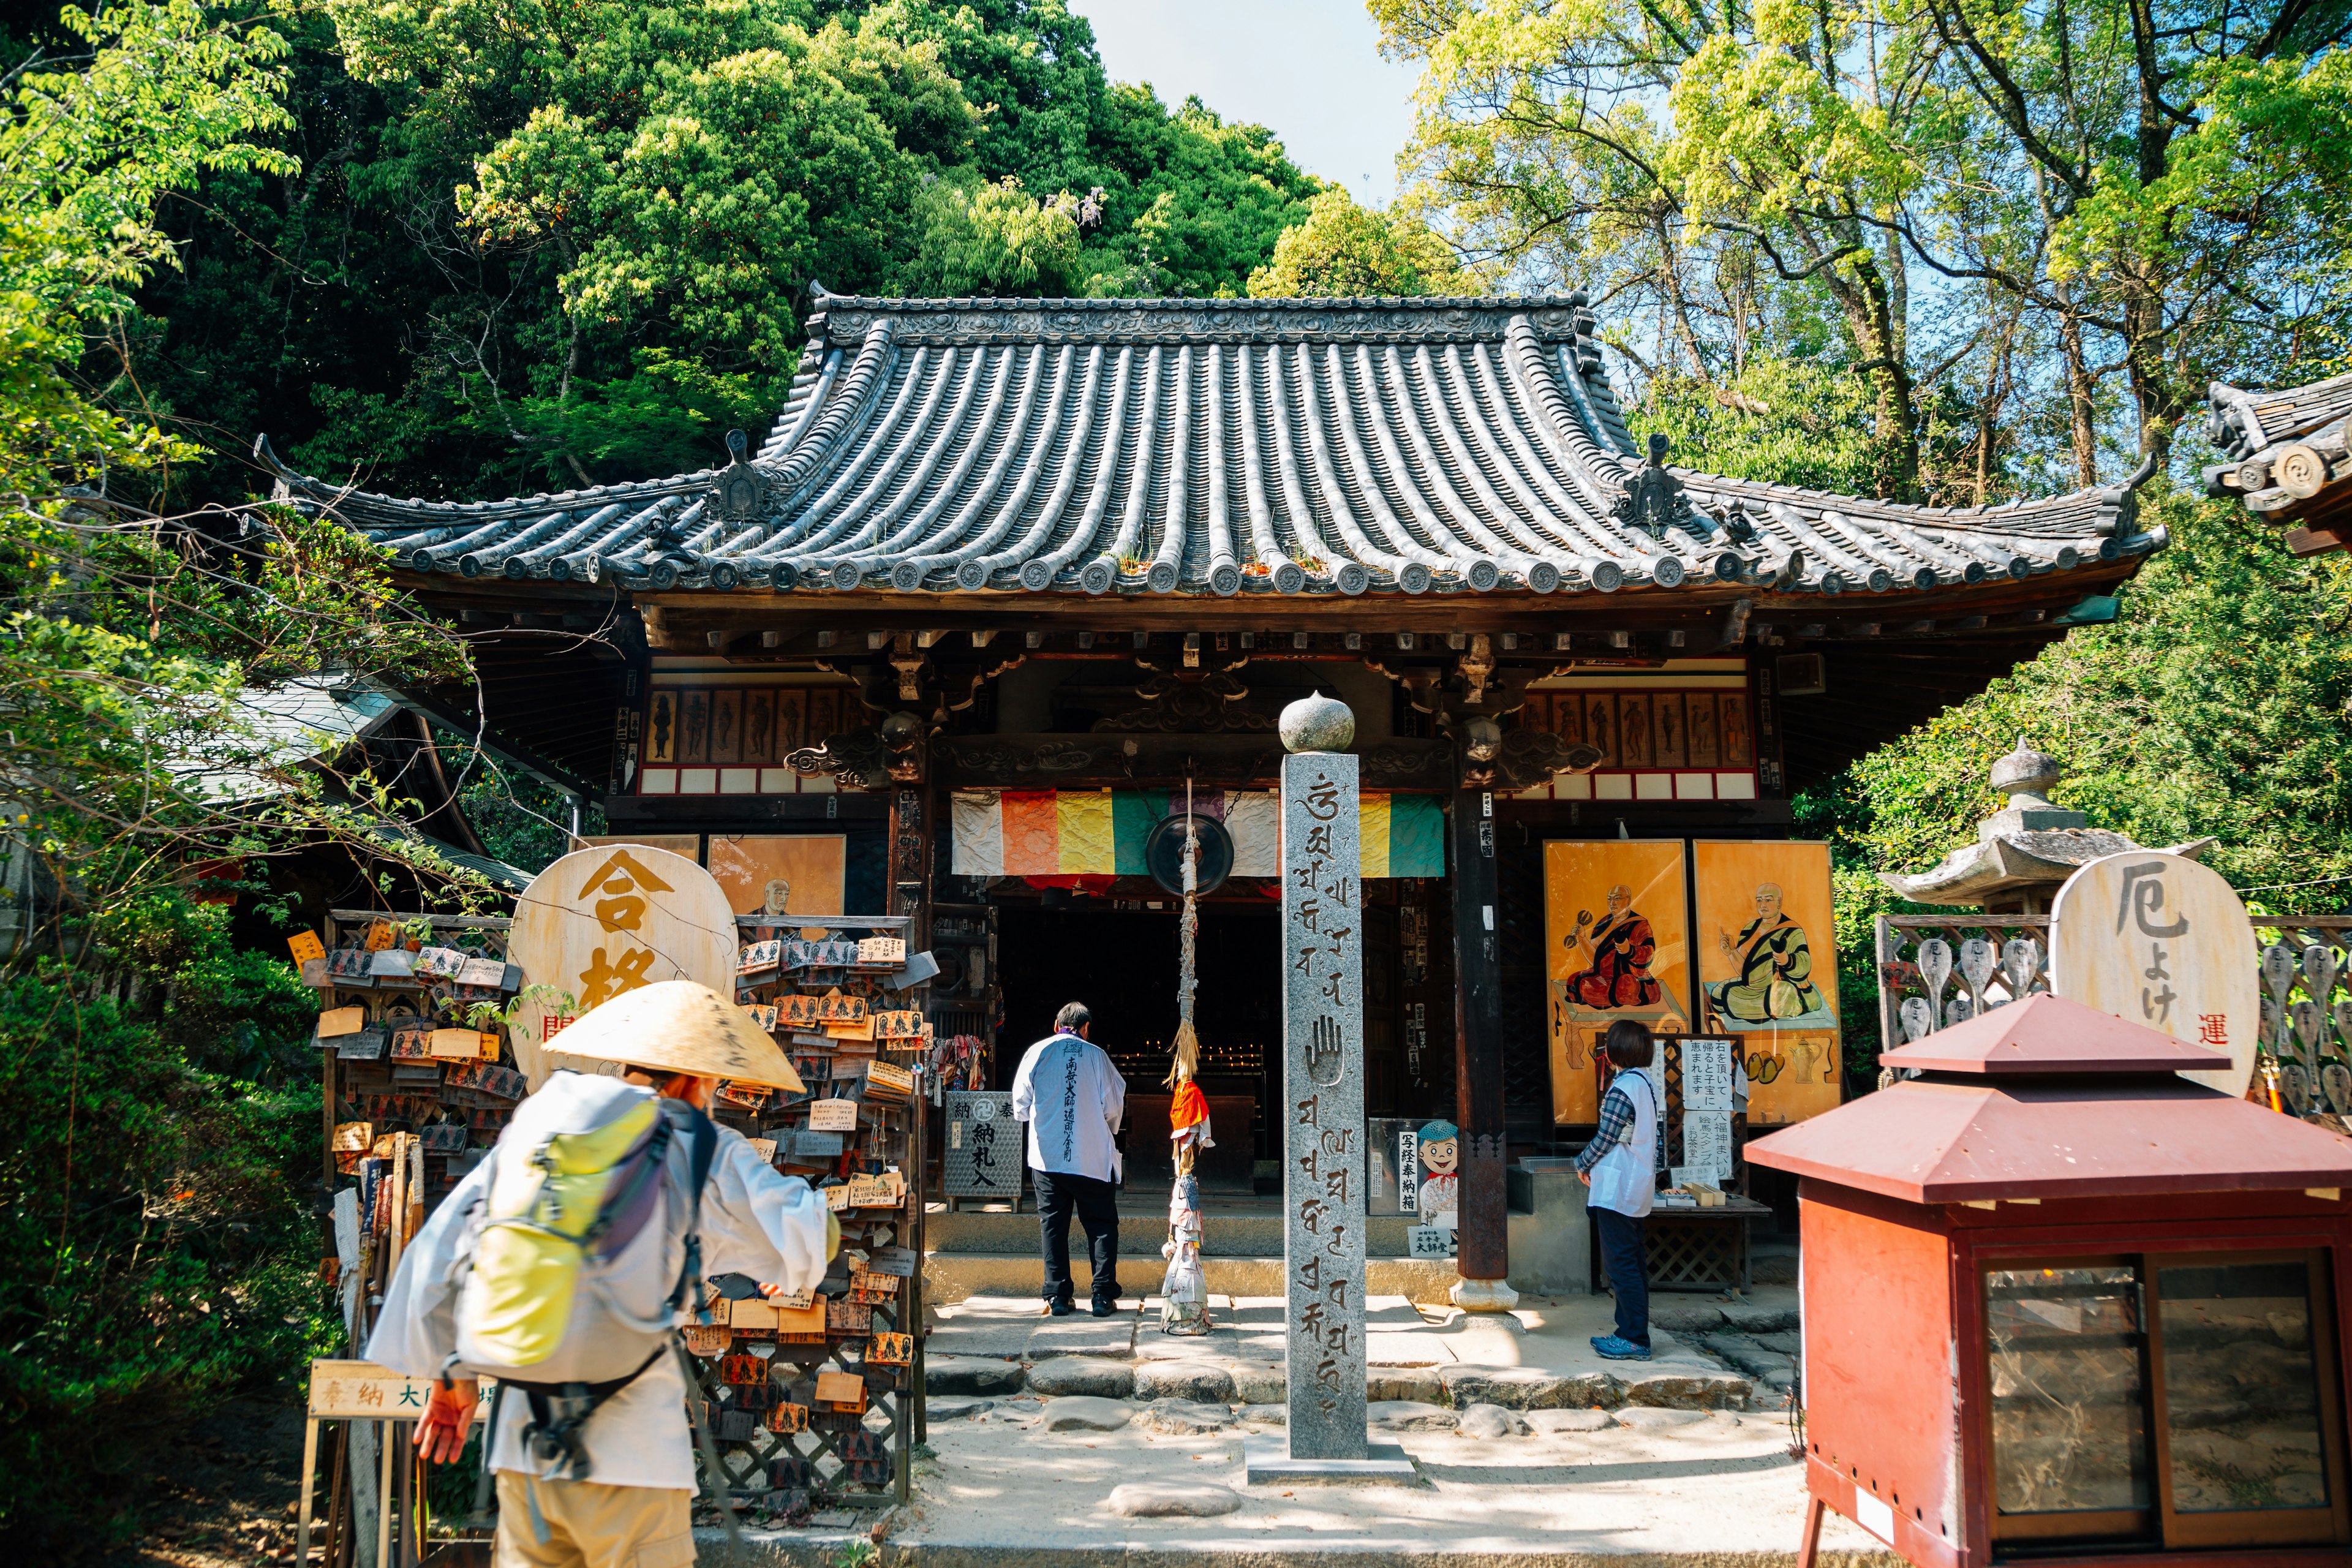
<instances>
[{"instance_id":1,"label":"red box with pitched roof and glass doors, right foreground","mask_svg":"<svg viewBox=\"0 0 2352 1568\"><path fill-rule=\"evenodd\" d=\"M2343 1568L2352 1143L2030 997L1748 1145L1804 1234L1806 1542L1929 1566Z\"/></svg>"}]
</instances>

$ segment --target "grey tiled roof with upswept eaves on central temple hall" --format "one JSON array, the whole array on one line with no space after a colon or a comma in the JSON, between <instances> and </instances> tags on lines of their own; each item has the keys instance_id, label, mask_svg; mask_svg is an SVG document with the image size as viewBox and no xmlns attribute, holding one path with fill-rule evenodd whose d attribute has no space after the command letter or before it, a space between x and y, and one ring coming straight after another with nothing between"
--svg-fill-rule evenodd
<instances>
[{"instance_id":1,"label":"grey tiled roof with upswept eaves on central temple hall","mask_svg":"<svg viewBox=\"0 0 2352 1568\"><path fill-rule=\"evenodd\" d=\"M280 465L282 489L414 571L652 590L1835 595L2161 545L2129 484L1919 508L1644 458L1583 294L821 294L809 334L729 468L440 503Z\"/></svg>"}]
</instances>

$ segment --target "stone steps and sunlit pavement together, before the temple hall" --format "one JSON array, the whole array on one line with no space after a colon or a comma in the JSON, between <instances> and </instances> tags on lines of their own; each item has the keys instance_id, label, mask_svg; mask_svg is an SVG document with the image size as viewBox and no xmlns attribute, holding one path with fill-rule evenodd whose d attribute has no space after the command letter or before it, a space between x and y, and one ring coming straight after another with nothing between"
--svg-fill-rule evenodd
<instances>
[{"instance_id":1,"label":"stone steps and sunlit pavement together, before the temple hall","mask_svg":"<svg viewBox=\"0 0 2352 1568\"><path fill-rule=\"evenodd\" d=\"M1284 1418L1277 1300L1216 1300L1218 1328L1197 1340L1162 1335L1157 1302L1112 1319L960 1302L929 1342L917 1500L882 1521L877 1568L1792 1563L1804 1472L1773 1382L1792 1375L1797 1293L1658 1298L1649 1363L1592 1354L1609 1307L1465 1316L1376 1298L1371 1429L1418 1479L1249 1488L1242 1439ZM750 1561L835 1563L851 1519L818 1523L755 1537ZM703 1563L727 1561L717 1533L696 1535ZM1828 1521L1823 1563L1896 1561Z\"/></svg>"}]
</instances>

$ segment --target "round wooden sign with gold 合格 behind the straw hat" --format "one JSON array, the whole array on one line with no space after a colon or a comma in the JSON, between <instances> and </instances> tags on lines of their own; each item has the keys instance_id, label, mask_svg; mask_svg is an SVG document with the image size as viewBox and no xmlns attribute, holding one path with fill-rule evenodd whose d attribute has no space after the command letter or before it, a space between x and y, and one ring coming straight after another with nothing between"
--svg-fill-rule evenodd
<instances>
[{"instance_id":1,"label":"round wooden sign with gold \u5408\u683c behind the straw hat","mask_svg":"<svg viewBox=\"0 0 2352 1568\"><path fill-rule=\"evenodd\" d=\"M562 1020L600 1001L656 980L696 980L734 997L736 919L727 893L694 860L649 844L595 844L522 889L506 957L522 966L524 985L508 1039L515 1065L539 1088L557 1067L614 1072L612 1063L562 1053Z\"/></svg>"}]
</instances>

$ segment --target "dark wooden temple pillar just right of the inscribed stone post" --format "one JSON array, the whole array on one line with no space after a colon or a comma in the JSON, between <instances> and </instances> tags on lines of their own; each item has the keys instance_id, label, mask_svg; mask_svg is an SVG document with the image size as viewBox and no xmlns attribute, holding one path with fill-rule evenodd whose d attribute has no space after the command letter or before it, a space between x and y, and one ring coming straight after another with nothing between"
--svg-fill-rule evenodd
<instances>
[{"instance_id":1,"label":"dark wooden temple pillar just right of the inscribed stone post","mask_svg":"<svg viewBox=\"0 0 2352 1568\"><path fill-rule=\"evenodd\" d=\"M1503 1178L1503 954L1496 938L1494 790L1454 792L1454 1103L1461 1143L1461 1241L1454 1300L1501 1312L1510 1274Z\"/></svg>"}]
</instances>

